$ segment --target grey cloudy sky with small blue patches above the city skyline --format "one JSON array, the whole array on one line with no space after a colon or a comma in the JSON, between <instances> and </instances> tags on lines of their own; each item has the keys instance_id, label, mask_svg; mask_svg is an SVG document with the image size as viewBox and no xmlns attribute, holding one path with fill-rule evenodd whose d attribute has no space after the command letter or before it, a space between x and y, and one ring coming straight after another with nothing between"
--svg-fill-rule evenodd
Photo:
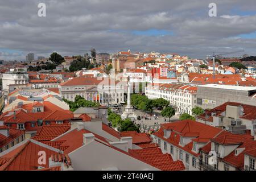
<instances>
[{"instance_id":1,"label":"grey cloudy sky with small blue patches above the city skyline","mask_svg":"<svg viewBox=\"0 0 256 182\"><path fill-rule=\"evenodd\" d=\"M46 17L38 4L46 4ZM216 3L217 17L208 15ZM0 59L158 51L256 55L255 0L0 0Z\"/></svg>"}]
</instances>

